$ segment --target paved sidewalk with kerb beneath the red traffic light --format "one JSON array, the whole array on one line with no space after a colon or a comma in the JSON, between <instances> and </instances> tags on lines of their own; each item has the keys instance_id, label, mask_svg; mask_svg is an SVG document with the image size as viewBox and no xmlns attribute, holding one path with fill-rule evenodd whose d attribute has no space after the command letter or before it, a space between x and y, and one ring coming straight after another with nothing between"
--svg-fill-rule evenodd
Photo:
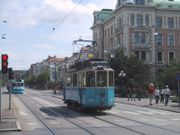
<instances>
[{"instance_id":1,"label":"paved sidewalk with kerb beneath the red traffic light","mask_svg":"<svg viewBox=\"0 0 180 135\"><path fill-rule=\"evenodd\" d=\"M2 121L0 122L0 132L21 130L20 123L16 118L13 102L11 108L9 110L9 93L7 89L2 88Z\"/></svg>"}]
</instances>

